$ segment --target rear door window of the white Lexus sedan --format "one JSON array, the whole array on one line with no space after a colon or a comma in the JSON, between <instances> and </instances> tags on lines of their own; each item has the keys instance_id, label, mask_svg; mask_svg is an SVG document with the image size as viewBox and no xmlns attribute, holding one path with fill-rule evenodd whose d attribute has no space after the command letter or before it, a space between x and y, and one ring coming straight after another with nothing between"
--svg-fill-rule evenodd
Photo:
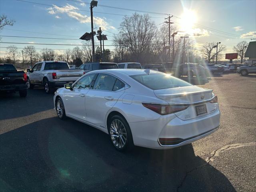
<instances>
[{"instance_id":1,"label":"rear door window of the white Lexus sedan","mask_svg":"<svg viewBox=\"0 0 256 192\"><path fill-rule=\"evenodd\" d=\"M116 83L117 78L109 74L100 73L95 81L93 89L112 91Z\"/></svg>"}]
</instances>

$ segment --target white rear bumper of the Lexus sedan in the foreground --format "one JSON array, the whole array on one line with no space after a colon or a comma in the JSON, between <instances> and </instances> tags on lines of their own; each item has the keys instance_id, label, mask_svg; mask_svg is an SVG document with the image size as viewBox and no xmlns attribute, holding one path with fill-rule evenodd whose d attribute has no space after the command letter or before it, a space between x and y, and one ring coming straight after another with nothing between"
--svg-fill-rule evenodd
<instances>
[{"instance_id":1,"label":"white rear bumper of the Lexus sedan in the foreground","mask_svg":"<svg viewBox=\"0 0 256 192\"><path fill-rule=\"evenodd\" d=\"M134 145L154 149L170 149L192 143L212 134L220 124L220 111L182 120L174 114L161 116L158 120L129 123ZM175 142L160 142L161 139Z\"/></svg>"}]
</instances>

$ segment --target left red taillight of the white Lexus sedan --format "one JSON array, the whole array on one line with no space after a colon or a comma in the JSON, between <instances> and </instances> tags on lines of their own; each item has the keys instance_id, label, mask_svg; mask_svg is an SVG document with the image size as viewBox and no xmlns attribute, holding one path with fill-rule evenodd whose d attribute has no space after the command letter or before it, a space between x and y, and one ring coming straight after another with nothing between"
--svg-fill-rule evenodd
<instances>
[{"instance_id":1,"label":"left red taillight of the white Lexus sedan","mask_svg":"<svg viewBox=\"0 0 256 192\"><path fill-rule=\"evenodd\" d=\"M160 115L167 115L167 114L175 113L188 108L188 106L184 106L184 105L164 105L164 104L152 104L152 103L142 103L142 105Z\"/></svg>"}]
</instances>

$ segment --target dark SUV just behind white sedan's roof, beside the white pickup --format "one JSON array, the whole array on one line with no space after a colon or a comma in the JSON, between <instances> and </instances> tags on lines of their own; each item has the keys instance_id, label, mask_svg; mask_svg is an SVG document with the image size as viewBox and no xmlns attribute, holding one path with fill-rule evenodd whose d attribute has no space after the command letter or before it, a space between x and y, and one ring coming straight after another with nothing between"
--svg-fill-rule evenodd
<instances>
[{"instance_id":1,"label":"dark SUV just behind white sedan's roof, beside the white pickup","mask_svg":"<svg viewBox=\"0 0 256 192\"><path fill-rule=\"evenodd\" d=\"M85 63L78 67L78 69L84 70L84 74L94 70L102 70L102 69L118 69L116 63L108 63L108 62L96 62L96 63Z\"/></svg>"}]
</instances>

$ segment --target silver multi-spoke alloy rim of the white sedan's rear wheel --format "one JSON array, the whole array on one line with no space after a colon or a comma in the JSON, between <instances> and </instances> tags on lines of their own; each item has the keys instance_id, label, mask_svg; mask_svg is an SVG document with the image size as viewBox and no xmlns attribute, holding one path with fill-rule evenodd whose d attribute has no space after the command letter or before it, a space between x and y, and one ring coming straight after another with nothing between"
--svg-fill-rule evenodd
<instances>
[{"instance_id":1,"label":"silver multi-spoke alloy rim of the white sedan's rear wheel","mask_svg":"<svg viewBox=\"0 0 256 192\"><path fill-rule=\"evenodd\" d=\"M115 119L111 122L110 137L116 148L121 149L125 146L127 141L127 132L124 124L120 120Z\"/></svg>"}]
</instances>

